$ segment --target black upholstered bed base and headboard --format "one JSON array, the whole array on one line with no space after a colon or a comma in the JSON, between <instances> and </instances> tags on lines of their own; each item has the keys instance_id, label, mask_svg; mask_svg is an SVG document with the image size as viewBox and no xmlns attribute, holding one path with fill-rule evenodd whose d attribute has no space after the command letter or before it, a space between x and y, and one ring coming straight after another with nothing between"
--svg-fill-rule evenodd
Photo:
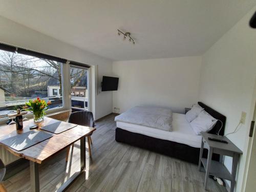
<instances>
[{"instance_id":1,"label":"black upholstered bed base and headboard","mask_svg":"<svg viewBox=\"0 0 256 192\"><path fill-rule=\"evenodd\" d=\"M220 131L220 135L224 135L226 117L214 109L210 108L202 102L198 102L204 110L209 113L212 117L222 121L223 126ZM218 121L214 128L209 132L211 134L218 134L221 128L221 122ZM131 144L147 150L164 154L170 157L178 158L183 161L198 164L200 148L192 147L186 144L177 143L173 141L158 139L138 133L129 132L120 128L116 128L116 141ZM207 157L207 150L204 149L203 157ZM219 161L220 156L212 154L212 159Z\"/></svg>"}]
</instances>

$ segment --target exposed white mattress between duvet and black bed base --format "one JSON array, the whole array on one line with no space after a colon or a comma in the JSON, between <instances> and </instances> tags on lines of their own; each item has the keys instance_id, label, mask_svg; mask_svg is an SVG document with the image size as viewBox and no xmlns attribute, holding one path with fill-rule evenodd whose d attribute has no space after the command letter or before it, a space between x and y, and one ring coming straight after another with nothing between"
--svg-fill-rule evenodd
<instances>
[{"instance_id":1,"label":"exposed white mattress between duvet and black bed base","mask_svg":"<svg viewBox=\"0 0 256 192\"><path fill-rule=\"evenodd\" d=\"M184 114L173 113L173 131L163 131L155 129L148 126L116 122L117 127L130 131L133 133L139 133L150 137L155 137L158 139L164 139L169 141L174 141L177 143L183 143L193 147L201 147L201 135L196 135L189 125L188 121L185 119Z\"/></svg>"}]
</instances>

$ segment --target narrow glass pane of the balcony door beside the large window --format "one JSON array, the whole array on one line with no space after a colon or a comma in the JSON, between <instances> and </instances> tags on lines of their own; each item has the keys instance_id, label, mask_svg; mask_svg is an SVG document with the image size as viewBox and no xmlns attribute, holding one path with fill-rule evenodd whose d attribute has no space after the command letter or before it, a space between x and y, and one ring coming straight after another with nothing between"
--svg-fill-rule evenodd
<instances>
[{"instance_id":1,"label":"narrow glass pane of the balcony door beside the large window","mask_svg":"<svg viewBox=\"0 0 256 192\"><path fill-rule=\"evenodd\" d=\"M88 70L70 67L72 111L88 110Z\"/></svg>"}]
</instances>

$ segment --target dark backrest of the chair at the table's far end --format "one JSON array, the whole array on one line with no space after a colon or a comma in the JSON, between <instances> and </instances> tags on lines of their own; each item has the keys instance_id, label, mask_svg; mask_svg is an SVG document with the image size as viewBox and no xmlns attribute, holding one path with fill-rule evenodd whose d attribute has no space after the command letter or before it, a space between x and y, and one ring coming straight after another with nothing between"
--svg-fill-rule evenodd
<instances>
[{"instance_id":1,"label":"dark backrest of the chair at the table's far end","mask_svg":"<svg viewBox=\"0 0 256 192\"><path fill-rule=\"evenodd\" d=\"M78 111L71 113L68 122L82 126L94 127L93 113L88 111Z\"/></svg>"}]
</instances>

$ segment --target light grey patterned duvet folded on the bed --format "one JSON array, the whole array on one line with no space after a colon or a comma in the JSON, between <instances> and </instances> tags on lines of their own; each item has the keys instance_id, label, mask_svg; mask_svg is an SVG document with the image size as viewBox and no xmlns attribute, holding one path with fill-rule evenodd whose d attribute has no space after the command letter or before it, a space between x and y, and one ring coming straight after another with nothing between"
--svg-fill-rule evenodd
<instances>
[{"instance_id":1,"label":"light grey patterned duvet folded on the bed","mask_svg":"<svg viewBox=\"0 0 256 192\"><path fill-rule=\"evenodd\" d=\"M172 131L173 112L170 109L152 106L135 106L116 116L115 121Z\"/></svg>"}]
</instances>

